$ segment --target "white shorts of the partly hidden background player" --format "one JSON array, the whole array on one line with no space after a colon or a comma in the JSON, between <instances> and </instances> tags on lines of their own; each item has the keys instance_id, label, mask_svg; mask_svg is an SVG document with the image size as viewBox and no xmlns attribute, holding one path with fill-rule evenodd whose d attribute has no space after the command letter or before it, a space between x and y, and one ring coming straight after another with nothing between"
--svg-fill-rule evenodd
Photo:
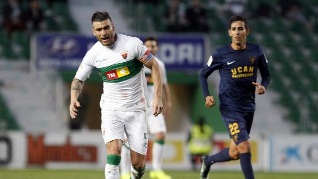
<instances>
[{"instance_id":1,"label":"white shorts of the partly hidden background player","mask_svg":"<svg viewBox=\"0 0 318 179\"><path fill-rule=\"evenodd\" d=\"M157 117L153 115L154 109L152 107L149 107L147 110L148 115L148 127L149 132L151 134L155 134L158 132L165 133L167 131L164 121L164 116L162 113L160 113Z\"/></svg>"}]
</instances>

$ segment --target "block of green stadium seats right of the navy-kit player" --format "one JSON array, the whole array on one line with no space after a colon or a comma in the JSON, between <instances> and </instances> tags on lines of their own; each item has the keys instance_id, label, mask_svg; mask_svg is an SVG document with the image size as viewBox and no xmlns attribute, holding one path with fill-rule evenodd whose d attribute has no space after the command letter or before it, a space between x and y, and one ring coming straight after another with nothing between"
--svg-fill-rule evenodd
<instances>
[{"instance_id":1,"label":"block of green stadium seats right of the navy-kit player","mask_svg":"<svg viewBox=\"0 0 318 179\"><path fill-rule=\"evenodd\" d=\"M262 38L256 37L257 33L253 34L252 31L248 41L256 41L263 48L266 46L271 50L271 53L266 53L265 51L271 65L272 81L270 89L279 92L280 98L278 102L288 109L286 119L299 124L302 121L302 117L304 117L300 112L302 103L295 101L292 97L292 94L298 94L306 96L307 100L310 101L310 109L308 109L310 121L317 126L317 102L315 103L313 97L308 95L318 91L317 72L313 68L313 64L318 63L317 42L314 40L313 34L308 33L305 28L298 28L301 25L298 22L289 23L288 20L283 18L271 20L273 20L273 28L267 28L266 33L261 35ZM262 33L262 24L264 24L263 19L256 18L250 21L251 28L255 28L258 33ZM273 39L275 43L272 42ZM310 53L305 53L304 49L309 50ZM287 53L288 51L289 53ZM289 83L286 83L286 80ZM308 132L318 132L318 129L310 126L306 127ZM301 128L296 129L299 132L302 130Z\"/></svg>"}]
</instances>

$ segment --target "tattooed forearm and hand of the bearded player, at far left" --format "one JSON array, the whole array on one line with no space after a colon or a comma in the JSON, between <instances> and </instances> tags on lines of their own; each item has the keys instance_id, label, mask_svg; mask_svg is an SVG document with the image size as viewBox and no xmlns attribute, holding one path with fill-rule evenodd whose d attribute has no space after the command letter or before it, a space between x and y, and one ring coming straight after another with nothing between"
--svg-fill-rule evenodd
<instances>
[{"instance_id":1,"label":"tattooed forearm and hand of the bearded player, at far left","mask_svg":"<svg viewBox=\"0 0 318 179\"><path fill-rule=\"evenodd\" d=\"M76 118L78 115L77 112L78 110L76 109L77 107L80 107L78 97L83 89L84 82L80 81L79 79L74 78L72 85L71 85L71 103L70 103L70 115L72 119Z\"/></svg>"}]
</instances>

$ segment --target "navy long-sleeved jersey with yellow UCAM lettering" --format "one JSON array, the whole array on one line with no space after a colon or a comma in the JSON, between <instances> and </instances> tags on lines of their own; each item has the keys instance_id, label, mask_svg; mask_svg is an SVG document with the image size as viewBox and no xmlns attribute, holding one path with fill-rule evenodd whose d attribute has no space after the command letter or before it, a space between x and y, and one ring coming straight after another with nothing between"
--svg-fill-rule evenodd
<instances>
[{"instance_id":1,"label":"navy long-sleeved jersey with yellow UCAM lettering","mask_svg":"<svg viewBox=\"0 0 318 179\"><path fill-rule=\"evenodd\" d=\"M257 69L267 88L270 82L268 61L262 48L257 44L246 43L243 50L234 50L231 44L218 48L209 58L199 78L204 97L210 95L207 78L219 70L220 109L235 111L255 110L255 86Z\"/></svg>"}]
</instances>

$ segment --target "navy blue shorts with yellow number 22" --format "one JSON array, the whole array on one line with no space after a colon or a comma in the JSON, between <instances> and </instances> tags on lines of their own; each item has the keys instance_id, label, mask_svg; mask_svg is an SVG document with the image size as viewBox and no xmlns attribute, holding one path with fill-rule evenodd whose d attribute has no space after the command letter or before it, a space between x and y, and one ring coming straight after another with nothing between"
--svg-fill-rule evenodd
<instances>
[{"instance_id":1,"label":"navy blue shorts with yellow number 22","mask_svg":"<svg viewBox=\"0 0 318 179\"><path fill-rule=\"evenodd\" d=\"M241 112L220 110L222 119L229 131L230 138L239 143L249 139L249 132L252 127L254 112Z\"/></svg>"}]
</instances>

